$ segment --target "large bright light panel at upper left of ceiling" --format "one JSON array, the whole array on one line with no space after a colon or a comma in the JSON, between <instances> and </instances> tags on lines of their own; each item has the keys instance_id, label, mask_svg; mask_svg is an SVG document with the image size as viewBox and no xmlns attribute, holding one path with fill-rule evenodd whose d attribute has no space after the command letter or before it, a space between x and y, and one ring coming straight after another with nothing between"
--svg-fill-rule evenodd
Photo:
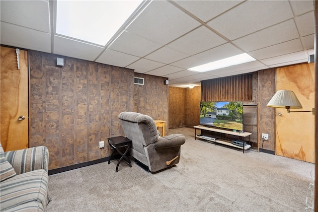
<instances>
[{"instance_id":1,"label":"large bright light panel at upper left of ceiling","mask_svg":"<svg viewBox=\"0 0 318 212\"><path fill-rule=\"evenodd\" d=\"M56 33L106 45L142 0L58 0Z\"/></svg>"}]
</instances>

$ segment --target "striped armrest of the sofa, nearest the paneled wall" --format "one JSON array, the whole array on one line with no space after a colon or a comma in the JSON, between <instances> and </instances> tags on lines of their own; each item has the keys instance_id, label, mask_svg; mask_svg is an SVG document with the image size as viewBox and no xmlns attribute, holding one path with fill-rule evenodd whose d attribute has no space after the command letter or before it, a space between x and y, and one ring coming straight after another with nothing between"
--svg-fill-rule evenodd
<instances>
[{"instance_id":1,"label":"striped armrest of the sofa, nearest the paneled wall","mask_svg":"<svg viewBox=\"0 0 318 212\"><path fill-rule=\"evenodd\" d=\"M44 169L48 172L49 150L46 146L6 151L6 160L13 166L16 174Z\"/></svg>"}]
</instances>

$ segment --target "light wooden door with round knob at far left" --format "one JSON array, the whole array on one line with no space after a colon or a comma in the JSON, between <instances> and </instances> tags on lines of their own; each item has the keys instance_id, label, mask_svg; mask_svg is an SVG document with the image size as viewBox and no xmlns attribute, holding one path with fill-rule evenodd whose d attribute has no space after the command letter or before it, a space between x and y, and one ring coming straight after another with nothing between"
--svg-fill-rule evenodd
<instances>
[{"instance_id":1,"label":"light wooden door with round knob at far left","mask_svg":"<svg viewBox=\"0 0 318 212\"><path fill-rule=\"evenodd\" d=\"M19 50L17 66L16 49L1 47L0 81L0 134L4 151L29 146L28 136L28 53ZM24 120L18 120L24 116Z\"/></svg>"}]
</instances>

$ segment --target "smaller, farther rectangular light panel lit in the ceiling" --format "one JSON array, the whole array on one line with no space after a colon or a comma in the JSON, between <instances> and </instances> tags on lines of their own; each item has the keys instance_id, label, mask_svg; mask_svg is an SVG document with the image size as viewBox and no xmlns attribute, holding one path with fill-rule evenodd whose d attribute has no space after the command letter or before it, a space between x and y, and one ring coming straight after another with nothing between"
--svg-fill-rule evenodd
<instances>
[{"instance_id":1,"label":"smaller, farther rectangular light panel lit in the ceiling","mask_svg":"<svg viewBox=\"0 0 318 212\"><path fill-rule=\"evenodd\" d=\"M252 58L246 53L236 55L233 57L225 58L219 61L214 61L211 63L203 64L201 66L196 66L188 69L189 71L198 71L198 72L206 72L213 71L217 69L222 69L230 66L235 66L239 64L244 64L248 62L256 61L256 59Z\"/></svg>"}]
</instances>

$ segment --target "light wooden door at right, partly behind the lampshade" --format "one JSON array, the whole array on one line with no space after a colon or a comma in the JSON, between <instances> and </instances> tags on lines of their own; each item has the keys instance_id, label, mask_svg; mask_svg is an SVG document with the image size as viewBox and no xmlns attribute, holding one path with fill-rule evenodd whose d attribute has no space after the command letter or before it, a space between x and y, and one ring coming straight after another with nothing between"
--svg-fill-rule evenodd
<instances>
[{"instance_id":1,"label":"light wooden door at right, partly behind the lampshade","mask_svg":"<svg viewBox=\"0 0 318 212\"><path fill-rule=\"evenodd\" d=\"M276 90L294 91L303 106L291 111L311 111L315 107L314 63L277 69L276 76ZM312 112L287 113L286 109L277 108L276 154L314 163L314 150L315 115Z\"/></svg>"}]
</instances>

